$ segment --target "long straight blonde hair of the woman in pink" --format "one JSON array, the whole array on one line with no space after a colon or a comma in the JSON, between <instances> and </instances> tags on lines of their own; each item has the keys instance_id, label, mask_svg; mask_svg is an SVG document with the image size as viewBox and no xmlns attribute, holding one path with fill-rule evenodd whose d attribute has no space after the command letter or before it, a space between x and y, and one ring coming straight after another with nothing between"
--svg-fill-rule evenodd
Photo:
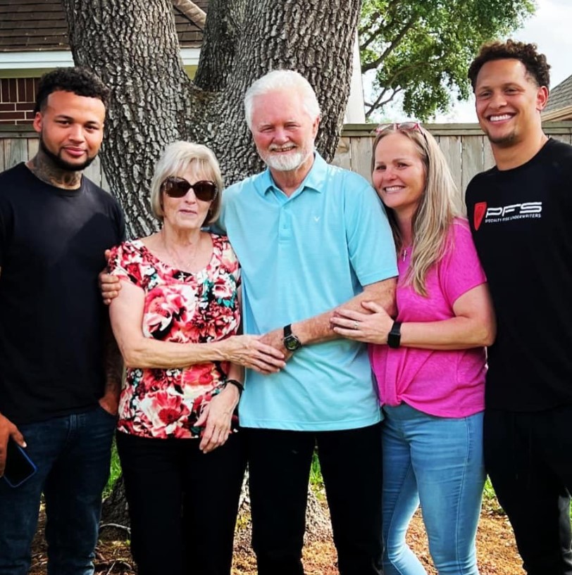
<instances>
[{"instance_id":1,"label":"long straight blonde hair of the woman in pink","mask_svg":"<svg viewBox=\"0 0 572 575\"><path fill-rule=\"evenodd\" d=\"M375 170L375 149L386 136L399 132L415 144L425 168L425 187L411 222L413 245L409 269L404 279L421 296L427 296L425 278L430 267L453 248L447 242L447 236L454 217L459 215L454 203L456 186L435 138L418 123L406 122L404 126L393 124L378 131L373 141L371 172L373 174ZM386 210L397 253L401 253L405 246L397 219L391 208Z\"/></svg>"}]
</instances>

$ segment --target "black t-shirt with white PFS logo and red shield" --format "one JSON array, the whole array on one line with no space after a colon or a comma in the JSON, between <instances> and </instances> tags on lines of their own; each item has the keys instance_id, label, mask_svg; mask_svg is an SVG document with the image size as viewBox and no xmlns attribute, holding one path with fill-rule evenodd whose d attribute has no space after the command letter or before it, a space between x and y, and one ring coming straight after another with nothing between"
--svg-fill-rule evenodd
<instances>
[{"instance_id":1,"label":"black t-shirt with white PFS logo and red shield","mask_svg":"<svg viewBox=\"0 0 572 575\"><path fill-rule=\"evenodd\" d=\"M497 313L487 407L572 403L572 146L475 176L466 205Z\"/></svg>"}]
</instances>

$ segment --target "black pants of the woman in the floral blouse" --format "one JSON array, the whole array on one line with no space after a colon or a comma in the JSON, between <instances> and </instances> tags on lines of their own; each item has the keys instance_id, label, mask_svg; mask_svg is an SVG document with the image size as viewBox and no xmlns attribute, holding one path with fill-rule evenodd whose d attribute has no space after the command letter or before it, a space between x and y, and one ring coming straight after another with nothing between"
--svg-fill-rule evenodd
<instances>
[{"instance_id":1,"label":"black pants of the woman in the floral blouse","mask_svg":"<svg viewBox=\"0 0 572 575\"><path fill-rule=\"evenodd\" d=\"M197 439L117 434L139 575L230 575L241 436L204 454Z\"/></svg>"}]
</instances>

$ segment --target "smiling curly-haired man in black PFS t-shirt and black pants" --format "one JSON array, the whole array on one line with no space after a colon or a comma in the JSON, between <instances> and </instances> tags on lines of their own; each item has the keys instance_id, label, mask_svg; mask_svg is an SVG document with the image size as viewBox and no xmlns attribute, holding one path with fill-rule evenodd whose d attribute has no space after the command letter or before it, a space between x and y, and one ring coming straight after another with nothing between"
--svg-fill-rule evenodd
<instances>
[{"instance_id":1,"label":"smiling curly-haired man in black PFS t-shirt and black pants","mask_svg":"<svg viewBox=\"0 0 572 575\"><path fill-rule=\"evenodd\" d=\"M485 464L529 575L571 575L572 146L540 114L549 66L534 44L495 42L471 64L495 168L467 215L497 313Z\"/></svg>"}]
</instances>

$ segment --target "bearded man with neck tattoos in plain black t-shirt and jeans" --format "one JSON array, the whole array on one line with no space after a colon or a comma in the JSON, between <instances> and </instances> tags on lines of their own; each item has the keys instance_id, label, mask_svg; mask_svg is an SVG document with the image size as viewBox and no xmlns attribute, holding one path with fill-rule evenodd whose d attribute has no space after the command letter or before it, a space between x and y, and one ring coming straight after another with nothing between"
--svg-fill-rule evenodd
<instances>
[{"instance_id":1,"label":"bearded man with neck tattoos in plain black t-shirt and jeans","mask_svg":"<svg viewBox=\"0 0 572 575\"><path fill-rule=\"evenodd\" d=\"M0 575L27 574L42 492L49 572L93 572L121 379L97 275L125 224L82 170L107 97L88 70L44 75L39 151L0 174L0 476L8 439L37 466L19 486L0 481Z\"/></svg>"}]
</instances>

